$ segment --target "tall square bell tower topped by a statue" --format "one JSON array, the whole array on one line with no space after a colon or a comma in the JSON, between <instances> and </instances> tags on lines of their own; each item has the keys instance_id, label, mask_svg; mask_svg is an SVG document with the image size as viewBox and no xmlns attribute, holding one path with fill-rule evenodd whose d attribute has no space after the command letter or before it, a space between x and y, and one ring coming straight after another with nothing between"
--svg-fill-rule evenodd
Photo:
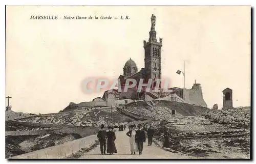
<instances>
[{"instance_id":1,"label":"tall square bell tower topped by a statue","mask_svg":"<svg viewBox=\"0 0 256 164\"><path fill-rule=\"evenodd\" d=\"M144 42L144 50L145 50L145 71L146 78L161 78L161 47L162 47L162 38L157 41L155 31L156 26L156 16L152 14L151 17L151 31L150 38L148 42L145 40Z\"/></svg>"}]
</instances>

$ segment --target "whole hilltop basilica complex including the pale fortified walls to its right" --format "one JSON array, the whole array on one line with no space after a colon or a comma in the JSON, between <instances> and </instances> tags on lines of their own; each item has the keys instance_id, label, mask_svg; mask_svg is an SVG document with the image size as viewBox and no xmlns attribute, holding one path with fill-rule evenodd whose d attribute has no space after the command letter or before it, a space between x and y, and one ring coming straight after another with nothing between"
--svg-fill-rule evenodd
<instances>
[{"instance_id":1,"label":"whole hilltop basilica complex including the pale fortified walls to its right","mask_svg":"<svg viewBox=\"0 0 256 164\"><path fill-rule=\"evenodd\" d=\"M118 77L121 89L124 88L125 82L129 78L135 79L137 81L137 85L134 88L129 88L127 92L118 92L117 89L105 91L102 96L102 100L106 101L108 105L114 105L117 101L121 100L169 100L207 106L203 99L201 85L196 84L196 82L191 89L173 87L168 89L170 92L165 93L160 89L161 92L155 93L153 90L146 92L144 88L140 92L137 92L140 79L143 79L143 84L147 84L148 79L152 79L152 89L155 89L156 86L155 79L161 79L162 38L159 38L159 40L157 39L155 26L156 16L152 14L149 38L148 41L143 41L144 68L138 70L135 61L130 58L124 64L123 74ZM161 88L161 84L159 88Z\"/></svg>"}]
</instances>

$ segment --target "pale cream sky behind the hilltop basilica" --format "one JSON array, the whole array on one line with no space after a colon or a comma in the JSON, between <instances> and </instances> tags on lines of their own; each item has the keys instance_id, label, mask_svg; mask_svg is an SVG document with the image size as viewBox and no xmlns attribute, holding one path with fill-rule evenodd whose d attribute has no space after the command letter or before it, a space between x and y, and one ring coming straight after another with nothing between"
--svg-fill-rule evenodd
<instances>
[{"instance_id":1,"label":"pale cream sky behind the hilltop basilica","mask_svg":"<svg viewBox=\"0 0 256 164\"><path fill-rule=\"evenodd\" d=\"M13 111L55 113L69 102L92 101L82 92L87 77L118 78L132 58L144 67L143 40L155 14L162 41L162 76L171 87L200 83L208 107L222 107L222 91L233 90L233 106L250 105L249 6L8 6L6 96ZM30 20L58 15L58 20ZM63 20L64 16L129 16L129 20Z\"/></svg>"}]
</instances>

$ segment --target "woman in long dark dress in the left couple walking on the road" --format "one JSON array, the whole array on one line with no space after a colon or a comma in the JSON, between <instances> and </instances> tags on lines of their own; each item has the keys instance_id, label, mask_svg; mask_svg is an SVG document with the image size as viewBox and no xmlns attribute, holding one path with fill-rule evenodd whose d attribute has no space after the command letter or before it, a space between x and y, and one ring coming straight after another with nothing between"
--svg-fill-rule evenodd
<instances>
[{"instance_id":1,"label":"woman in long dark dress in the left couple walking on the road","mask_svg":"<svg viewBox=\"0 0 256 164\"><path fill-rule=\"evenodd\" d=\"M116 140L116 134L113 131L113 127L109 127L109 131L107 133L108 140L106 141L106 153L113 154L117 153L116 146L115 146L115 140Z\"/></svg>"}]
</instances>

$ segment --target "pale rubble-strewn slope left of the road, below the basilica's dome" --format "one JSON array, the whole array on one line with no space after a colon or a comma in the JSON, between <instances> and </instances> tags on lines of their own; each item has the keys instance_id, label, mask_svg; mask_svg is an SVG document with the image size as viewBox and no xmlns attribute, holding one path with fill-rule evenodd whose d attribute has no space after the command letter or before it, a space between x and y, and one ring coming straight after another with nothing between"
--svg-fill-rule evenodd
<instances>
[{"instance_id":1,"label":"pale rubble-strewn slope left of the road, below the basilica's dome","mask_svg":"<svg viewBox=\"0 0 256 164\"><path fill-rule=\"evenodd\" d=\"M44 124L63 124L75 126L99 126L100 124L109 124L110 122L131 122L134 119L112 111L111 108L98 108L96 110L75 110L70 112L60 112L56 114L37 115L29 118L18 119L16 121L44 123Z\"/></svg>"}]
</instances>

